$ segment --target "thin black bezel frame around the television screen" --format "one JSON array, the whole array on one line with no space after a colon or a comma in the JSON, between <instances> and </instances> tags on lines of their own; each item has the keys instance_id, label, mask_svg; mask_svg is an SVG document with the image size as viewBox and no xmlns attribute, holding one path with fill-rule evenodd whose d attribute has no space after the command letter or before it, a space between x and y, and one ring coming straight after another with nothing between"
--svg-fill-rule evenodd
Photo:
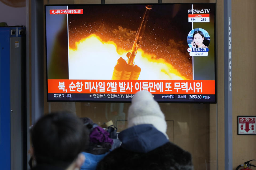
<instances>
[{"instance_id":1,"label":"thin black bezel frame around the television screen","mask_svg":"<svg viewBox=\"0 0 256 170\"><path fill-rule=\"evenodd\" d=\"M214 4L214 86L215 86L215 101L157 101L158 103L195 103L195 104L216 104L217 103L217 42L216 42L216 3L117 3L117 4L45 4L44 5L44 28L45 28L45 60L46 60L46 96L47 102L90 102L90 103L131 103L130 101L106 101L106 100L49 100L48 99L48 69L47 69L47 45L46 45L46 6L86 6L86 5L97 5L97 6L108 6L108 5L169 5L169 4L186 4L186 5L193 5L193 4Z\"/></svg>"}]
</instances>

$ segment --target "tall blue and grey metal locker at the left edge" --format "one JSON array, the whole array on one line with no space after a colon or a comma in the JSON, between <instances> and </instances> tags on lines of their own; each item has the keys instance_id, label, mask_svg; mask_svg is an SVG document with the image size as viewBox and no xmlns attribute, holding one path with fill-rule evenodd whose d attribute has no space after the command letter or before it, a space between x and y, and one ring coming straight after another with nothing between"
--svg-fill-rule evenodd
<instances>
[{"instance_id":1,"label":"tall blue and grey metal locker at the left edge","mask_svg":"<svg viewBox=\"0 0 256 170\"><path fill-rule=\"evenodd\" d=\"M24 169L25 51L25 27L0 27L0 165L6 170Z\"/></svg>"}]
</instances>

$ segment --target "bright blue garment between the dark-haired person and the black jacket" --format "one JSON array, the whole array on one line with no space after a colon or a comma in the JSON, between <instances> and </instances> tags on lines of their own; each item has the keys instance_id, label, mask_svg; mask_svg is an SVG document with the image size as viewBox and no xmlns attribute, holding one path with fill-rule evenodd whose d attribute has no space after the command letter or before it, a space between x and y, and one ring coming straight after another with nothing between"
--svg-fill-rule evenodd
<instances>
[{"instance_id":1,"label":"bright blue garment between the dark-haired person and the black jacket","mask_svg":"<svg viewBox=\"0 0 256 170\"><path fill-rule=\"evenodd\" d=\"M81 169L95 170L99 161L101 161L109 152L102 155L94 155L87 152L82 152L85 155L85 162L81 166Z\"/></svg>"}]
</instances>

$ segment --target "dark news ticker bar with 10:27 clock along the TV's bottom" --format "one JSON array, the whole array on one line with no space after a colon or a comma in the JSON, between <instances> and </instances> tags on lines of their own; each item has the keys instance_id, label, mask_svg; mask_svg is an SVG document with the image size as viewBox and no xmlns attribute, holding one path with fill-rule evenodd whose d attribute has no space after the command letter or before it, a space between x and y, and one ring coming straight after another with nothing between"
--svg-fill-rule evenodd
<instances>
[{"instance_id":1,"label":"dark news ticker bar with 10:27 clock along the TV's bottom","mask_svg":"<svg viewBox=\"0 0 256 170\"><path fill-rule=\"evenodd\" d=\"M51 101L131 101L134 94L81 94L48 93ZM159 102L214 102L215 95L153 94Z\"/></svg>"}]
</instances>

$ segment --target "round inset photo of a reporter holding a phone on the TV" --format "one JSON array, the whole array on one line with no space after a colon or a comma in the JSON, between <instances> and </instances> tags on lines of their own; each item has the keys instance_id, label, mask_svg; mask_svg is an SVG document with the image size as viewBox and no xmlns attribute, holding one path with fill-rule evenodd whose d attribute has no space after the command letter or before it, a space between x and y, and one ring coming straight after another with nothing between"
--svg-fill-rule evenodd
<instances>
[{"instance_id":1,"label":"round inset photo of a reporter holding a phone on the TV","mask_svg":"<svg viewBox=\"0 0 256 170\"><path fill-rule=\"evenodd\" d=\"M208 48L210 44L210 35L202 28L195 28L189 32L187 36L187 44L191 48Z\"/></svg>"}]
</instances>

